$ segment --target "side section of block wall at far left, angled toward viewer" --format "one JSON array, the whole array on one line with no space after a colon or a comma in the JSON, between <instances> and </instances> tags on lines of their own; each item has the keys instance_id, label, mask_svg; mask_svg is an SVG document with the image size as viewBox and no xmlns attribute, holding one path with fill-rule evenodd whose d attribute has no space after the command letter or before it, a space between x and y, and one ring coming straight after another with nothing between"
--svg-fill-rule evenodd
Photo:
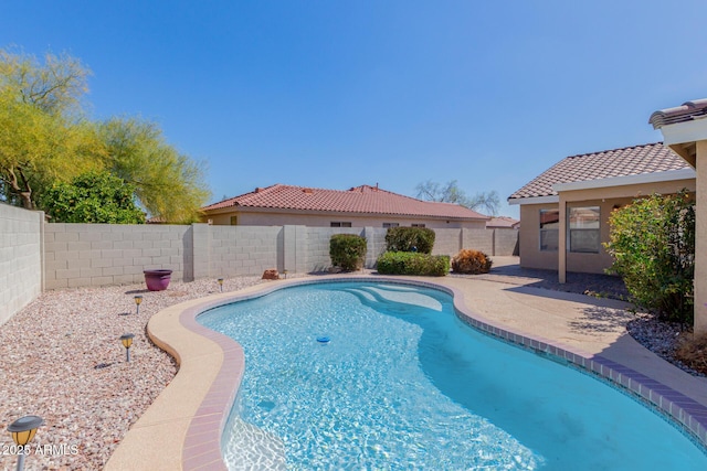
<instances>
[{"instance_id":1,"label":"side section of block wall at far left, angled toward viewer","mask_svg":"<svg viewBox=\"0 0 707 471\"><path fill-rule=\"evenodd\" d=\"M0 203L0 325L42 292L43 220Z\"/></svg>"}]
</instances>

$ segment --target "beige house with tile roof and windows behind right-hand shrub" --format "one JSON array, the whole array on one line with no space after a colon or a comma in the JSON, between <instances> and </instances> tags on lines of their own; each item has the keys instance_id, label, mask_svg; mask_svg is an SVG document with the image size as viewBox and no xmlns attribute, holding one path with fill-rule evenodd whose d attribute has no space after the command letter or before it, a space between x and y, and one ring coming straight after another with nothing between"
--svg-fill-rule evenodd
<instances>
[{"instance_id":1,"label":"beige house with tile roof and windows behind right-hand shrub","mask_svg":"<svg viewBox=\"0 0 707 471\"><path fill-rule=\"evenodd\" d=\"M571 156L508 197L520 205L520 265L602 274L609 215L635 197L695 191L695 170L661 142Z\"/></svg>"}]
</instances>

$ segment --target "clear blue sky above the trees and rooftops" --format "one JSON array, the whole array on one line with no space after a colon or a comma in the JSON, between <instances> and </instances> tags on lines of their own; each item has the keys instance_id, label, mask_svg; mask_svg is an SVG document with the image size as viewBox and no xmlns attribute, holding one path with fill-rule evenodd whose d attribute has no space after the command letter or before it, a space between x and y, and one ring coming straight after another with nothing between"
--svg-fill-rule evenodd
<instances>
[{"instance_id":1,"label":"clear blue sky above the trees and rooftops","mask_svg":"<svg viewBox=\"0 0 707 471\"><path fill-rule=\"evenodd\" d=\"M506 197L558 160L655 142L707 97L707 2L9 1L0 47L93 71L95 119L140 116L212 200L432 180Z\"/></svg>"}]
</instances>

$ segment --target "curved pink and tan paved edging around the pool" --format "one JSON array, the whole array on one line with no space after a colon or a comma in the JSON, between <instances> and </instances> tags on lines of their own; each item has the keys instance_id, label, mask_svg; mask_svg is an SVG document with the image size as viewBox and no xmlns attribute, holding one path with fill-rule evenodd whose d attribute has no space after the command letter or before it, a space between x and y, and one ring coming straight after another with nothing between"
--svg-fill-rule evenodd
<instances>
[{"instance_id":1,"label":"curved pink and tan paved edging around the pool","mask_svg":"<svg viewBox=\"0 0 707 471\"><path fill-rule=\"evenodd\" d=\"M634 395L672 417L693 440L707 447L707 407L673 388L601 355L582 352L537 335L516 332L469 310L462 292L439 281L407 277L325 276L257 285L167 308L155 314L148 334L180 365L175 379L126 433L106 470L226 470L222 432L243 377L241 345L197 322L210 309L265 296L293 286L321 282L379 281L434 288L452 295L466 324L555 361L571 363Z\"/></svg>"}]
</instances>

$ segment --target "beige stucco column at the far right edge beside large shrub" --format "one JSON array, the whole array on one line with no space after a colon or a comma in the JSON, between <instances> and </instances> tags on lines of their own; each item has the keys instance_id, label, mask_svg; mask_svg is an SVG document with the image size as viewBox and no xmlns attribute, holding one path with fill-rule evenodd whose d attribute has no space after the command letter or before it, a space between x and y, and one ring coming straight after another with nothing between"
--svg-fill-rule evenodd
<instances>
[{"instance_id":1,"label":"beige stucco column at the far right edge beside large shrub","mask_svg":"<svg viewBox=\"0 0 707 471\"><path fill-rule=\"evenodd\" d=\"M707 332L707 140L697 144L695 170L695 333Z\"/></svg>"}]
</instances>

